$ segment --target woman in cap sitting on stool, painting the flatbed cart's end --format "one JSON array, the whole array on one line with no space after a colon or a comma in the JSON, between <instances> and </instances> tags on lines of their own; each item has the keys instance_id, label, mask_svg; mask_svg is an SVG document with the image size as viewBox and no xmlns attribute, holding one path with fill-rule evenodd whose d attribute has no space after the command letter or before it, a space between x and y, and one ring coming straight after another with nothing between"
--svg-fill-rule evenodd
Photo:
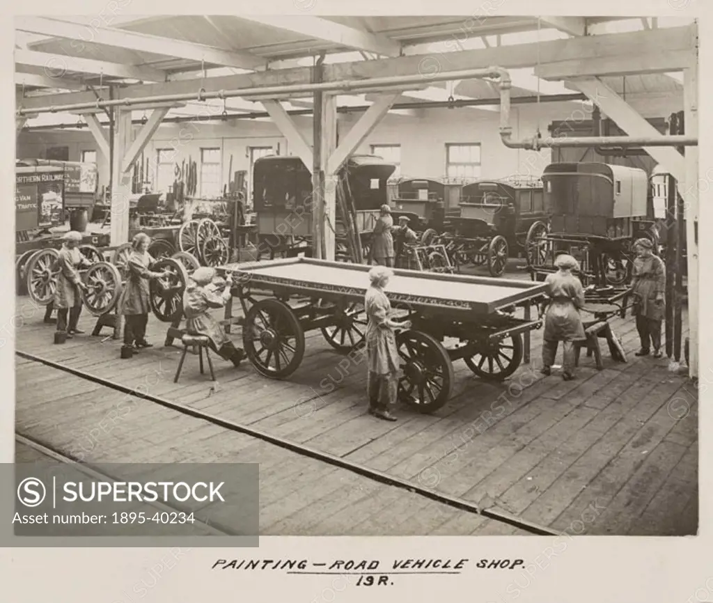
<instances>
[{"instance_id":1,"label":"woman in cap sitting on stool, painting the flatbed cart's end","mask_svg":"<svg viewBox=\"0 0 713 603\"><path fill-rule=\"evenodd\" d=\"M188 283L183 294L186 330L191 335L206 336L210 339L210 349L222 359L240 366L245 352L233 345L225 329L209 314L211 309L222 308L230 299L230 287L225 287L221 295L210 287L214 277L215 270L210 267L199 268L190 277L193 282Z\"/></svg>"}]
</instances>

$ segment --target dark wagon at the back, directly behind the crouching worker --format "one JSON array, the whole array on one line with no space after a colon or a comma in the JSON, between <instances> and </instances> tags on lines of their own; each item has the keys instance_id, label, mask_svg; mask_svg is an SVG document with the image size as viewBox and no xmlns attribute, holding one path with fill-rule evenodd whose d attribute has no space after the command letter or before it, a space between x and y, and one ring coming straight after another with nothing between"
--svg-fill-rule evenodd
<instances>
[{"instance_id":1,"label":"dark wagon at the back, directly behind the crouching worker","mask_svg":"<svg viewBox=\"0 0 713 603\"><path fill-rule=\"evenodd\" d=\"M421 244L428 245L443 232L445 190L443 182L437 180L401 180L390 200L394 225L399 223L399 217L406 216L411 230L420 235Z\"/></svg>"}]
</instances>

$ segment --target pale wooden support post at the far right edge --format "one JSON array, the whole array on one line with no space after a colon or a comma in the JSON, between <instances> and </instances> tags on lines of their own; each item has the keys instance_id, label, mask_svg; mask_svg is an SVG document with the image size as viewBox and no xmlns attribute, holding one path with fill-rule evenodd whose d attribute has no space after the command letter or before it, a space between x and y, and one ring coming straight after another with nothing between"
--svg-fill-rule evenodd
<instances>
[{"instance_id":1,"label":"pale wooden support post at the far right edge","mask_svg":"<svg viewBox=\"0 0 713 603\"><path fill-rule=\"evenodd\" d=\"M685 130L698 134L698 66L683 71L683 102ZM685 150L685 189L683 193L686 218L686 257L688 261L688 330L690 358L688 376L698 377L698 147Z\"/></svg>"}]
</instances>

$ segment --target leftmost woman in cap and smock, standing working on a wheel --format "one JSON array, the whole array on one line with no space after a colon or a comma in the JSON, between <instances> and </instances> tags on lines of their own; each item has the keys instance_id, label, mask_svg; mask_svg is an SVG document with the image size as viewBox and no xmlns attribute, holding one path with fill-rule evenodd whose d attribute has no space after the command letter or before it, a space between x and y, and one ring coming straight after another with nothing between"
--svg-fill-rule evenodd
<instances>
[{"instance_id":1,"label":"leftmost woman in cap and smock, standing working on a wheel","mask_svg":"<svg viewBox=\"0 0 713 603\"><path fill-rule=\"evenodd\" d=\"M77 248L82 240L81 234L71 230L62 238L64 242L56 261L59 270L57 289L54 292L52 305L57 310L57 331L66 332L67 337L71 339L73 335L84 332L77 328L77 323L82 311L81 292L86 290L86 285L82 282L78 271L80 268L90 267L91 262ZM69 314L69 324L67 324L67 314Z\"/></svg>"}]
</instances>

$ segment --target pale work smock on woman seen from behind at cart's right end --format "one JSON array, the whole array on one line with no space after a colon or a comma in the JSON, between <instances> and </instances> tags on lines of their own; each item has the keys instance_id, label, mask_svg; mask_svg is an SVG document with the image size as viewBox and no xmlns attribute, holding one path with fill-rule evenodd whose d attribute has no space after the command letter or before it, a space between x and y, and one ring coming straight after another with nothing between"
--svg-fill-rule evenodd
<instances>
[{"instance_id":1,"label":"pale work smock on woman seen from behind at cart's right end","mask_svg":"<svg viewBox=\"0 0 713 603\"><path fill-rule=\"evenodd\" d=\"M573 274L555 272L545 279L550 304L545 312L545 333L548 341L585 339L579 309L584 306L582 283Z\"/></svg>"}]
</instances>

